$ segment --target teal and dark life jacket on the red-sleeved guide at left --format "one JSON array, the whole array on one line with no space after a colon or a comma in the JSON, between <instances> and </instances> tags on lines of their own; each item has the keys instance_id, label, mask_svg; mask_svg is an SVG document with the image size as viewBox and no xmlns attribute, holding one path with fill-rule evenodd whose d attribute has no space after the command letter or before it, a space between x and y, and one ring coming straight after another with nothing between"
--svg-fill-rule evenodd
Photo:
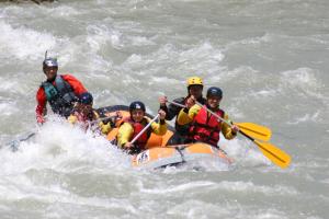
<instances>
[{"instance_id":1,"label":"teal and dark life jacket on the red-sleeved guide at left","mask_svg":"<svg viewBox=\"0 0 329 219\"><path fill-rule=\"evenodd\" d=\"M61 76L56 76L55 84L45 81L42 83L47 101L55 114L68 117L73 108L75 102L78 101L73 93L72 87L65 81Z\"/></svg>"}]
</instances>

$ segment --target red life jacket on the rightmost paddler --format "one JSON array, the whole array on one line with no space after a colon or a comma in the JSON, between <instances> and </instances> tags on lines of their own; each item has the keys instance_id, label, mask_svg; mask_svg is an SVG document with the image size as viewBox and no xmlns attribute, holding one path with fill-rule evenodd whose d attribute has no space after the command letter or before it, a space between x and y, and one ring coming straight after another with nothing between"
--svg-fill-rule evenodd
<instances>
[{"instance_id":1,"label":"red life jacket on the rightmost paddler","mask_svg":"<svg viewBox=\"0 0 329 219\"><path fill-rule=\"evenodd\" d=\"M214 112L219 117L224 117L225 112L218 108ZM222 122L214 115L208 116L207 107L204 105L194 117L189 138L192 141L202 141L217 147L219 141L219 131L222 129Z\"/></svg>"}]
</instances>

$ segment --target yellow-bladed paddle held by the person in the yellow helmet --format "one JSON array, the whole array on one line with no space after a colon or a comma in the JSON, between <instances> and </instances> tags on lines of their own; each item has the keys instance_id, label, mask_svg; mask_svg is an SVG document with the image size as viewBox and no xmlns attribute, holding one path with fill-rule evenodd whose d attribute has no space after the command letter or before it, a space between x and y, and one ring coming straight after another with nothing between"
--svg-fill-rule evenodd
<instances>
[{"instance_id":1,"label":"yellow-bladed paddle held by the person in the yellow helmet","mask_svg":"<svg viewBox=\"0 0 329 219\"><path fill-rule=\"evenodd\" d=\"M185 105L182 105L180 103L175 103L172 101L168 101L169 103L180 106L180 107L185 107ZM209 112L209 111L208 111ZM222 117L219 117L217 114L209 112L212 115L214 115L216 118L218 118L219 120L227 123L229 126L231 126L231 124L229 124L228 122L226 122L225 119L223 119ZM259 140L263 140L263 141L268 141L271 138L272 131L270 128L264 127L264 126L260 126L253 123L235 123L235 125L237 125L241 130L243 130L245 134L251 136L252 138L259 139Z\"/></svg>"}]
</instances>

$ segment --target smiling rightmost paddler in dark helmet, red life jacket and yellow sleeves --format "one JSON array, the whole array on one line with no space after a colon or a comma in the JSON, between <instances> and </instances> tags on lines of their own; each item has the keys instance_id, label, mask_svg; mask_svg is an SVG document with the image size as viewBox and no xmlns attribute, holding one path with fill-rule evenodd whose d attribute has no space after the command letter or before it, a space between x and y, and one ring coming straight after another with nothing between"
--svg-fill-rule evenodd
<instances>
[{"instance_id":1,"label":"smiling rightmost paddler in dark helmet, red life jacket and yellow sleeves","mask_svg":"<svg viewBox=\"0 0 329 219\"><path fill-rule=\"evenodd\" d=\"M190 124L188 136L190 142L201 141L218 148L220 131L226 139L236 137L239 131L238 126L231 125L230 127L207 112L207 110L211 110L225 120L229 120L228 115L219 108L222 97L222 90L212 87L207 90L205 105L200 106L195 104L195 101L191 100L191 102L186 102L186 107L180 111L178 123L180 125Z\"/></svg>"}]
</instances>

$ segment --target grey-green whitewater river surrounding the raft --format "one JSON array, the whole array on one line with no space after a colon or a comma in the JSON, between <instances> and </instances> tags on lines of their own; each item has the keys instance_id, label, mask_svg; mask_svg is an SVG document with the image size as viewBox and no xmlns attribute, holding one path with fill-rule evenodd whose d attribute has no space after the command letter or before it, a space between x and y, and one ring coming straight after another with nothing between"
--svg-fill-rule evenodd
<instances>
[{"instance_id":1,"label":"grey-green whitewater river surrounding the raft","mask_svg":"<svg viewBox=\"0 0 329 219\"><path fill-rule=\"evenodd\" d=\"M327 219L328 10L327 0L0 2L0 218ZM183 96L200 76L223 89L232 120L270 127L292 163L277 168L239 136L219 142L229 169L135 170L52 113L37 127L47 49L95 107L140 100L154 114L160 95ZM30 131L12 152L7 143Z\"/></svg>"}]
</instances>

